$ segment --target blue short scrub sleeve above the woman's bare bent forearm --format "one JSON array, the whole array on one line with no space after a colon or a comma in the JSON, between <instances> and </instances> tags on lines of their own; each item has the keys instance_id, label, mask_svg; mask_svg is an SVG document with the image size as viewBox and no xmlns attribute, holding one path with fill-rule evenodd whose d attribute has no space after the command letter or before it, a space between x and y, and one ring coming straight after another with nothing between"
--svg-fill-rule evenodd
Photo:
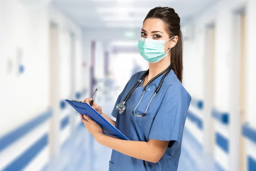
<instances>
[{"instance_id":1,"label":"blue short scrub sleeve above the woman's bare bent forearm","mask_svg":"<svg viewBox=\"0 0 256 171\"><path fill-rule=\"evenodd\" d=\"M182 85L169 85L154 118L148 139L172 141L179 145L187 113L187 99L182 97Z\"/></svg>"}]
</instances>

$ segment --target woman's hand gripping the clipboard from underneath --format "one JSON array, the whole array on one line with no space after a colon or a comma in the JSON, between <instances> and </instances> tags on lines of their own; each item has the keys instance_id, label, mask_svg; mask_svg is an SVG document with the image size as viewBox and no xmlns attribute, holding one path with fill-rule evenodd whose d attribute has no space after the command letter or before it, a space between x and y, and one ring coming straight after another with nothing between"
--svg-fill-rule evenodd
<instances>
[{"instance_id":1,"label":"woman's hand gripping the clipboard from underneath","mask_svg":"<svg viewBox=\"0 0 256 171\"><path fill-rule=\"evenodd\" d=\"M102 127L98 123L96 123L94 120L92 120L89 116L87 116L87 115L83 116L81 114L79 114L79 115L80 115L81 121L84 123L84 126L87 129L87 131L89 131L93 135L95 140L99 142L99 138L102 135L105 135L103 133Z\"/></svg>"}]
</instances>

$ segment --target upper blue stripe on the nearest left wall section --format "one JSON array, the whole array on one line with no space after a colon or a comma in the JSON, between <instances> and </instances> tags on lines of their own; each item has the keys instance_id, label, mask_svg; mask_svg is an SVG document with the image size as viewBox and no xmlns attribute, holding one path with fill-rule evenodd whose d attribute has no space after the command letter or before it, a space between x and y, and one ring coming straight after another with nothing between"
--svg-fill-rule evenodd
<instances>
[{"instance_id":1,"label":"upper blue stripe on the nearest left wall section","mask_svg":"<svg viewBox=\"0 0 256 171\"><path fill-rule=\"evenodd\" d=\"M16 128L15 130L9 132L8 134L4 135L0 138L0 151L4 148L8 147L15 142L20 137L23 137L29 131L36 128L38 125L44 123L49 117L52 116L52 110L49 108L43 114L39 115L38 117L34 118L33 120L29 121L28 123L21 125L20 127Z\"/></svg>"}]
</instances>

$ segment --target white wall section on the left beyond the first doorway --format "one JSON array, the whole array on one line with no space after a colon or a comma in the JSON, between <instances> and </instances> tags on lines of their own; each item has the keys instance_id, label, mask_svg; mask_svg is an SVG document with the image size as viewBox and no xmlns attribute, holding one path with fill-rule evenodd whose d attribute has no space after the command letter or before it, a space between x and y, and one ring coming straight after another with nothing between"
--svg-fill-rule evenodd
<instances>
[{"instance_id":1,"label":"white wall section on the left beyond the first doorway","mask_svg":"<svg viewBox=\"0 0 256 171\"><path fill-rule=\"evenodd\" d=\"M59 36L59 53L61 60L61 97L59 100L65 99L70 96L70 62L74 60L75 63L75 92L81 91L83 85L82 80L82 31L79 26L72 23L64 14L56 9L49 9L49 21L54 22L58 26ZM75 57L70 59L71 53L71 32L75 35Z\"/></svg>"}]
</instances>

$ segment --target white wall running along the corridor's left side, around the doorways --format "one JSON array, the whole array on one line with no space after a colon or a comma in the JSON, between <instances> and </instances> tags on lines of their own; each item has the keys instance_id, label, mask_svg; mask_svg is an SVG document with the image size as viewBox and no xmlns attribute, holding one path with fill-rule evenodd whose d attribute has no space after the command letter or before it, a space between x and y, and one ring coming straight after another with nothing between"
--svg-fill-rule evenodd
<instances>
[{"instance_id":1,"label":"white wall running along the corridor's left side, around the doorways","mask_svg":"<svg viewBox=\"0 0 256 171\"><path fill-rule=\"evenodd\" d=\"M86 74L82 75L81 28L53 7L25 6L20 4L19 0L1 1L0 137L8 134L19 125L32 120L32 118L41 114L50 105L49 26L51 22L58 25L58 54L60 58L58 63L60 74L58 77L61 85L59 87L60 95L58 102L66 98L69 99L71 95L74 96L74 94L71 94L70 81L70 61L72 60L70 56L70 32L75 34L76 57L73 59L76 64L75 92L81 92L84 87L82 80L84 80ZM25 68L23 74L18 73L18 48L23 51L22 64ZM12 64L12 67L9 68L8 64ZM59 105L56 108L59 108ZM54 121L59 123L61 119L70 114L69 109L67 108L62 113L60 112L58 120ZM70 117L72 122L75 121L73 117L75 116L71 115ZM76 115L76 117L79 116ZM49 129L49 124L47 129ZM57 129L60 128L57 127ZM59 135L59 132L56 130L54 130L54 134ZM69 135L70 125L58 137L61 139L59 141L66 140ZM24 142L26 141L28 139L24 139Z\"/></svg>"}]
</instances>

